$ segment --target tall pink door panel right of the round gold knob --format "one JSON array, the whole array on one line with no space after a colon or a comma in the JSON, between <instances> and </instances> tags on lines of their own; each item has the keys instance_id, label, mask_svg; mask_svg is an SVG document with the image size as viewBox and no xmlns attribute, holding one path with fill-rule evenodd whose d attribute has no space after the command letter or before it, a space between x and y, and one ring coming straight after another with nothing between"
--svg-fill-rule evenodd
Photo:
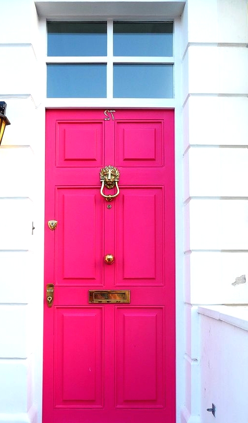
<instances>
[{"instance_id":1,"label":"tall pink door panel right of the round gold knob","mask_svg":"<svg viewBox=\"0 0 248 423\"><path fill-rule=\"evenodd\" d=\"M116 285L164 285L163 188L122 188L116 203Z\"/></svg>"}]
</instances>

